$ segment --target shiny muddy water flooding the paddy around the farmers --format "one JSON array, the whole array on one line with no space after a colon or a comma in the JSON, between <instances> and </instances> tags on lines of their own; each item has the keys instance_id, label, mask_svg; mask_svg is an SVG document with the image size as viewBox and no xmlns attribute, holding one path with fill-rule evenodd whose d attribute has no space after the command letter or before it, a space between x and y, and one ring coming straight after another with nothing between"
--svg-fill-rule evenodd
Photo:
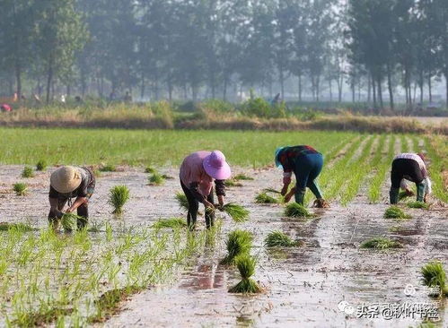
<instances>
[{"instance_id":1,"label":"shiny muddy water flooding the paddy around the farmers","mask_svg":"<svg viewBox=\"0 0 448 328\"><path fill-rule=\"evenodd\" d=\"M31 188L30 194L22 198L10 191L21 169L7 166L0 170L0 221L31 220L43 226L48 211L49 173L24 179ZM180 191L178 180L167 180L164 186L146 186L147 175L141 171L126 168L123 172L102 174L92 198L92 218L110 219L107 194L111 186L118 184L129 186L132 198L124 217L117 222L150 224L161 217L182 215L173 199L173 194ZM162 171L177 176L173 169ZM218 264L225 253L225 233L236 227L225 219L223 236L217 245L198 255L175 283L148 289L129 299L123 311L106 326L408 327L421 323L417 313L414 312L416 318L410 317L412 311L406 318L391 320L384 318L387 312L368 319L357 318L356 311L363 304L436 303L420 285L419 270L432 259L448 265L448 209L444 204L435 204L431 211L407 209L412 220L386 220L382 219L387 208L385 197L381 203L370 204L364 194L358 194L346 208L332 203L329 210L315 210L316 219L285 220L280 205L252 202L261 189L278 188L281 174L276 169L245 173L256 180L242 181L244 186L228 190L228 200L242 203L251 211L250 221L238 228L249 229L255 235L252 254L258 256L259 264L254 278L266 292L251 297L227 292L238 282L239 274ZM360 193L365 190L363 186ZM267 250L263 239L273 229L303 240L305 246ZM396 238L404 248L385 252L359 248L365 239L377 236ZM413 288L405 293L408 284ZM346 306L347 313L341 311L341 301L353 309ZM436 304L441 327L448 326L446 305L446 301Z\"/></svg>"}]
</instances>

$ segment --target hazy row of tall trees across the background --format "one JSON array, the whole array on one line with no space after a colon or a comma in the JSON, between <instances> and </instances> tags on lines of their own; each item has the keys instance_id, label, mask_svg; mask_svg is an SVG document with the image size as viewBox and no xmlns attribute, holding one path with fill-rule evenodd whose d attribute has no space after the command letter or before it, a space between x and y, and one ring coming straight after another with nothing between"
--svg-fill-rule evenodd
<instances>
[{"instance_id":1,"label":"hazy row of tall trees across the background","mask_svg":"<svg viewBox=\"0 0 448 328\"><path fill-rule=\"evenodd\" d=\"M446 0L3 0L0 81L66 93L226 99L294 81L319 101L345 86L431 97L448 78ZM13 78L12 78L13 77ZM13 82L14 81L14 82ZM287 87L291 89L291 85ZM448 87L447 87L448 98Z\"/></svg>"}]
</instances>

